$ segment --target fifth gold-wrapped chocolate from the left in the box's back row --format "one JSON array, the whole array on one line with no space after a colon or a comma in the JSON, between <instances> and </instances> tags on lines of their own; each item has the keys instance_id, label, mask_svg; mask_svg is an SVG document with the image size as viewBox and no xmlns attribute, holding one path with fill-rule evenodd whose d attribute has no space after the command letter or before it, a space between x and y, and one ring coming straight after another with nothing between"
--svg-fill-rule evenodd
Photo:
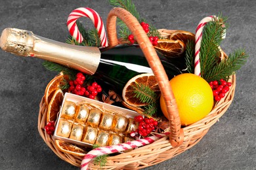
<instances>
[{"instance_id":1,"label":"fifth gold-wrapped chocolate from the left in the box's back row","mask_svg":"<svg viewBox=\"0 0 256 170\"><path fill-rule=\"evenodd\" d=\"M125 116L120 116L116 114L114 116L113 124L112 124L112 131L115 132L123 132L125 131L128 124L128 119Z\"/></svg>"}]
</instances>

